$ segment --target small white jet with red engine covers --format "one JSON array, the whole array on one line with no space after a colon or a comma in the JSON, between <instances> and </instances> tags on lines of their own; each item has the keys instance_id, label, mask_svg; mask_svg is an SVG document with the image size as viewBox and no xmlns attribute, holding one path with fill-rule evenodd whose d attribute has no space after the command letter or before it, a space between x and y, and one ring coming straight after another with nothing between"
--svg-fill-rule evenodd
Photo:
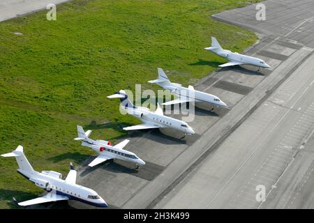
<instances>
[{"instance_id":1,"label":"small white jet with red engine covers","mask_svg":"<svg viewBox=\"0 0 314 223\"><path fill-rule=\"evenodd\" d=\"M105 162L106 160L125 160L129 162L135 162L136 168L138 169L140 166L144 166L145 162L140 159L135 153L124 150L124 146L128 144L130 140L126 139L121 141L121 143L112 146L110 141L105 140L94 140L89 139L89 134L91 134L91 130L87 130L84 132L82 126L77 125L77 134L78 137L74 140L82 141L82 146L87 146L98 153L98 157L96 157L90 164L89 167L95 167L97 164Z\"/></svg>"}]
</instances>

